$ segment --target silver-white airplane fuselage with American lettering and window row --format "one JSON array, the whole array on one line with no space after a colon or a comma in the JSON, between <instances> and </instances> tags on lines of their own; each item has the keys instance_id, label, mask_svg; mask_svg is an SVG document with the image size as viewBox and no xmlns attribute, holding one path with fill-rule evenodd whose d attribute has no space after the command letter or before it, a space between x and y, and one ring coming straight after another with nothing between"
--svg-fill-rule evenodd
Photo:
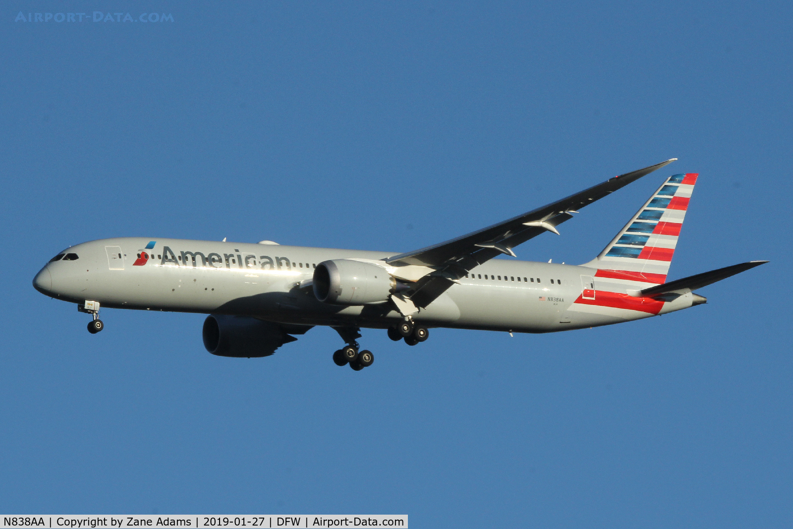
<instances>
[{"instance_id":1,"label":"silver-white airplane fuselage with American lettering and window row","mask_svg":"<svg viewBox=\"0 0 793 529\"><path fill-rule=\"evenodd\" d=\"M277 244L118 238L95 240L64 252L78 259L48 263L34 280L49 296L116 309L255 316L283 324L387 328L403 319L390 301L328 305L301 288L315 266L329 259L385 259L396 252L339 250ZM139 256L146 254L149 259ZM414 320L428 327L509 332L554 332L620 323L691 306L691 295L655 309L581 305L586 266L492 259L471 270ZM600 280L599 280L600 281ZM593 296L642 298L623 292ZM639 301L636 301L639 300ZM578 303L577 303L578 301Z\"/></svg>"}]
</instances>

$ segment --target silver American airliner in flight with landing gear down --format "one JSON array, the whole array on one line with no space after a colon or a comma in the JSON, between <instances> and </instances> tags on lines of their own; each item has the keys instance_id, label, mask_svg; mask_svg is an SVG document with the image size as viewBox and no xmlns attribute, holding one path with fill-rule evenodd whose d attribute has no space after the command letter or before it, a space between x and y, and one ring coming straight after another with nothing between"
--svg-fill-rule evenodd
<instances>
[{"instance_id":1,"label":"silver American airliner in flight with landing gear down","mask_svg":"<svg viewBox=\"0 0 793 529\"><path fill-rule=\"evenodd\" d=\"M641 320L707 302L695 293L768 261L667 281L698 174L672 174L595 259L581 265L514 259L513 248L581 208L665 167L620 174L528 213L419 250L339 250L270 240L232 243L123 237L68 247L33 279L49 297L90 314L101 307L209 314L202 338L213 355L259 358L327 325L346 344L338 366L374 362L361 328L387 329L415 346L430 328L559 332ZM83 272L82 270L86 270Z\"/></svg>"}]
</instances>

